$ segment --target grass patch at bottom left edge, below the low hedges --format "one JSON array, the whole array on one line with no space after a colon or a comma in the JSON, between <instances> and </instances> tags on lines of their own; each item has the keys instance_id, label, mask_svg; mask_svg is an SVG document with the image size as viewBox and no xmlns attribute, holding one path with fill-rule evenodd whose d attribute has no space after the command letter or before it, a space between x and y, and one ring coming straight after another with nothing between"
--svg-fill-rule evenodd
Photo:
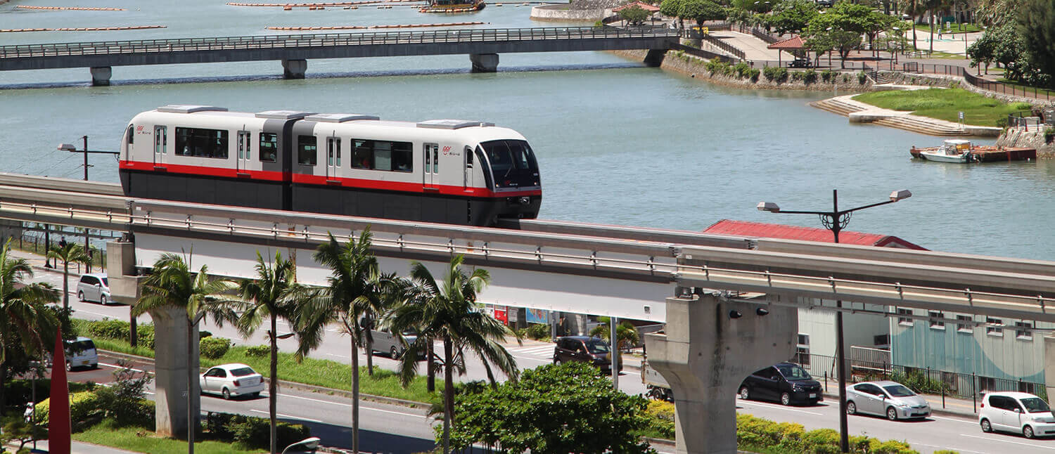
<instances>
[{"instance_id":1,"label":"grass patch at bottom left edge, below the low hedges","mask_svg":"<svg viewBox=\"0 0 1055 454\"><path fill-rule=\"evenodd\" d=\"M151 454L183 454L187 452L187 441L162 438L153 431L141 428L118 428L106 420L91 429L73 434L73 439L94 445L120 448ZM266 450L239 449L236 445L220 441L196 441L194 452L202 454L263 453Z\"/></svg>"}]
</instances>

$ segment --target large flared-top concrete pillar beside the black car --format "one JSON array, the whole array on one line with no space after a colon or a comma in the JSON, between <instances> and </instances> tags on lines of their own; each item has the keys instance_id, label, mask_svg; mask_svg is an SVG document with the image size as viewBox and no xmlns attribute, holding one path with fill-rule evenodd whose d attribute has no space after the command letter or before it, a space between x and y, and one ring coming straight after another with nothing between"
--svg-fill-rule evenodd
<instances>
[{"instance_id":1,"label":"large flared-top concrete pillar beside the black car","mask_svg":"<svg viewBox=\"0 0 1055 454\"><path fill-rule=\"evenodd\" d=\"M769 313L759 315L759 308ZM666 334L646 334L645 346L674 394L678 454L736 453L737 387L751 372L790 358L798 330L794 308L716 293L667 298Z\"/></svg>"}]
</instances>

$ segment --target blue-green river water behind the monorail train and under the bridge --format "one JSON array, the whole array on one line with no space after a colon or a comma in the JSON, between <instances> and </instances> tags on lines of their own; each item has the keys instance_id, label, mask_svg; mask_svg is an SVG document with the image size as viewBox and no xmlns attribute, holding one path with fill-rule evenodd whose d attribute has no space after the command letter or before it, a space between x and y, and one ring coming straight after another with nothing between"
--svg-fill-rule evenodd
<instances>
[{"instance_id":1,"label":"blue-green river water behind the monorail train and under the bridge","mask_svg":"<svg viewBox=\"0 0 1055 454\"><path fill-rule=\"evenodd\" d=\"M7 33L0 43L277 34L265 29L270 25L552 25L531 21L529 6L509 4L447 17L402 5L316 12L222 0L92 5L129 11L19 11L8 3L0 6L0 28L168 28ZM165 104L466 118L512 127L531 141L542 170L542 218L689 230L723 218L820 226L813 216L754 206L768 200L785 210L825 210L838 189L841 206L849 208L908 189L910 199L859 212L848 229L933 250L1055 258L1048 240L1055 208L1050 161L914 162L909 146L941 139L851 125L806 105L830 92L733 90L606 53L503 54L497 74L468 74L468 66L467 56L310 60L304 80L282 80L277 61L130 66L114 67L114 85L107 87L89 86L88 68L0 73L0 171L79 178L80 155L56 151L58 143L79 147L88 135L90 149L116 150L132 116ZM117 181L112 158L92 162L93 180Z\"/></svg>"}]
</instances>

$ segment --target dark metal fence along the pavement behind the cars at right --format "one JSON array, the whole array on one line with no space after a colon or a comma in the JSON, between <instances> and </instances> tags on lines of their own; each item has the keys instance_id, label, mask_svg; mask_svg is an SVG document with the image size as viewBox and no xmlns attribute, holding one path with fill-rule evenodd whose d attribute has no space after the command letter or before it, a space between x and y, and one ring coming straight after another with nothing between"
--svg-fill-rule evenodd
<instances>
[{"instance_id":1,"label":"dark metal fence along the pavement behind the cars at right","mask_svg":"<svg viewBox=\"0 0 1055 454\"><path fill-rule=\"evenodd\" d=\"M839 378L838 361L832 356L797 353L792 360L818 379ZM1047 400L1044 383L894 364L881 355L868 357L860 352L852 352L852 348L847 362L847 370L850 371L850 375L846 377L848 382L893 379L917 393L942 397L977 399L985 392L1019 391L1039 395Z\"/></svg>"}]
</instances>

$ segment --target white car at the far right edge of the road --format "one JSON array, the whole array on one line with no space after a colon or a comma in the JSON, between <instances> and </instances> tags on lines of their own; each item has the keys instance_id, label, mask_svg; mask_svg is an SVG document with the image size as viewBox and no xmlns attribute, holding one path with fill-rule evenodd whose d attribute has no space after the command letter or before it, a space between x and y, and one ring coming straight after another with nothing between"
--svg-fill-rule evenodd
<instances>
[{"instance_id":1,"label":"white car at the far right edge of the road","mask_svg":"<svg viewBox=\"0 0 1055 454\"><path fill-rule=\"evenodd\" d=\"M1027 438L1055 435L1055 416L1040 397L1030 393L986 393L978 408L982 432L1012 432Z\"/></svg>"}]
</instances>

